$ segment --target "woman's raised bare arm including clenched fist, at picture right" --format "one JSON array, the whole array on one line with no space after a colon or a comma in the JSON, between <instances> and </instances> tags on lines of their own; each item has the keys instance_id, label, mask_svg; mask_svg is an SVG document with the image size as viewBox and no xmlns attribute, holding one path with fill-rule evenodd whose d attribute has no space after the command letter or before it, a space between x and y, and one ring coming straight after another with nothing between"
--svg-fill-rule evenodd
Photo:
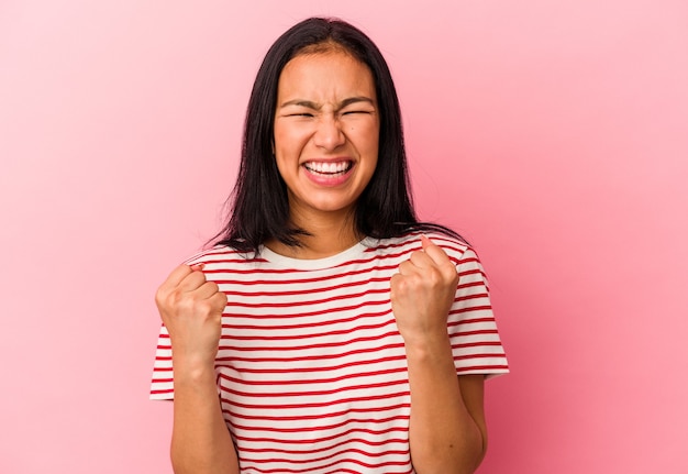
<instances>
[{"instance_id":1,"label":"woman's raised bare arm including clenched fist, at picture right","mask_svg":"<svg viewBox=\"0 0 688 474\"><path fill-rule=\"evenodd\" d=\"M411 461L418 474L470 474L487 449L484 376L456 375L446 321L458 274L442 249L422 244L390 282L409 367Z\"/></svg>"}]
</instances>

